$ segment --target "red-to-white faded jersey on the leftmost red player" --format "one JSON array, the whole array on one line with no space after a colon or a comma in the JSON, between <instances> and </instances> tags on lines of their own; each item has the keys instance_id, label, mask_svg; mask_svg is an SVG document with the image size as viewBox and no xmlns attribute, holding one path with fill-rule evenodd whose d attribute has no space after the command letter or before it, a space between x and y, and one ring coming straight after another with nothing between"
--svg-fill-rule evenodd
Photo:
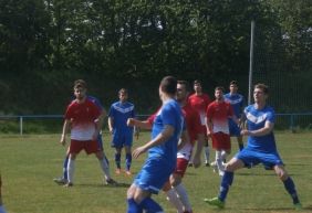
<instances>
[{"instance_id":1,"label":"red-to-white faded jersey on the leftmost red player","mask_svg":"<svg viewBox=\"0 0 312 213\"><path fill-rule=\"evenodd\" d=\"M92 140L100 108L89 98L84 103L72 102L66 109L65 119L71 120L71 139Z\"/></svg>"}]
</instances>

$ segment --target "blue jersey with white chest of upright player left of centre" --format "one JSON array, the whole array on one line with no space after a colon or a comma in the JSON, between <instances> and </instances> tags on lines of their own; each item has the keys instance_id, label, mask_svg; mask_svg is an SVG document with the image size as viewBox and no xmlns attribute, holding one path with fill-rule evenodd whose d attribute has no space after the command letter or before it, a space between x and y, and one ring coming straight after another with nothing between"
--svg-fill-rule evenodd
<instances>
[{"instance_id":1,"label":"blue jersey with white chest of upright player left of centre","mask_svg":"<svg viewBox=\"0 0 312 213\"><path fill-rule=\"evenodd\" d=\"M134 105L132 103L116 102L112 104L108 117L113 118L113 135L132 135L133 127L127 126L127 119L135 117Z\"/></svg>"}]
</instances>

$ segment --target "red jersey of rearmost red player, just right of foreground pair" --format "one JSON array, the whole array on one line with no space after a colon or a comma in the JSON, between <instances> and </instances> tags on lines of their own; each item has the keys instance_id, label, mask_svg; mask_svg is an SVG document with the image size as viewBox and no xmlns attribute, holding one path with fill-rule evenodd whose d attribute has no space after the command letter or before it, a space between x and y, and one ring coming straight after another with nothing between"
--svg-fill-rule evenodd
<instances>
[{"instance_id":1,"label":"red jersey of rearmost red player, just right of foreground pair","mask_svg":"<svg viewBox=\"0 0 312 213\"><path fill-rule=\"evenodd\" d=\"M205 126L206 110L208 105L211 103L210 97L207 94L193 94L188 97L188 102L190 106L197 110L200 116L201 125Z\"/></svg>"}]
</instances>

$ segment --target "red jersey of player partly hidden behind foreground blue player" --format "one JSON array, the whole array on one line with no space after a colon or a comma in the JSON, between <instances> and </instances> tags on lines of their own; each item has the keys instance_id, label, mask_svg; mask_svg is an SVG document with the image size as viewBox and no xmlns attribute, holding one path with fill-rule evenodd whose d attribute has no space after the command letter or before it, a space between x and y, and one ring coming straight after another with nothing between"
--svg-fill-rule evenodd
<instances>
[{"instance_id":1,"label":"red jersey of player partly hidden behind foreground blue player","mask_svg":"<svg viewBox=\"0 0 312 213\"><path fill-rule=\"evenodd\" d=\"M205 134L201 128L199 114L189 104L186 104L181 109L185 117L186 129L189 135L190 143L194 145L197 140L197 135Z\"/></svg>"}]
</instances>

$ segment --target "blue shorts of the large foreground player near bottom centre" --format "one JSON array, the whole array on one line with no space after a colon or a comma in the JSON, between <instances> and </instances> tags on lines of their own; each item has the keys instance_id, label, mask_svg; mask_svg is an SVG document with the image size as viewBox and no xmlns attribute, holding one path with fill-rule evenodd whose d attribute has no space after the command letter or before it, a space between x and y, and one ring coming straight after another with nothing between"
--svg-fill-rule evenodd
<instances>
[{"instance_id":1,"label":"blue shorts of the large foreground player near bottom centre","mask_svg":"<svg viewBox=\"0 0 312 213\"><path fill-rule=\"evenodd\" d=\"M154 194L163 189L174 172L175 166L168 166L164 159L147 159L134 179L134 184Z\"/></svg>"}]
</instances>

